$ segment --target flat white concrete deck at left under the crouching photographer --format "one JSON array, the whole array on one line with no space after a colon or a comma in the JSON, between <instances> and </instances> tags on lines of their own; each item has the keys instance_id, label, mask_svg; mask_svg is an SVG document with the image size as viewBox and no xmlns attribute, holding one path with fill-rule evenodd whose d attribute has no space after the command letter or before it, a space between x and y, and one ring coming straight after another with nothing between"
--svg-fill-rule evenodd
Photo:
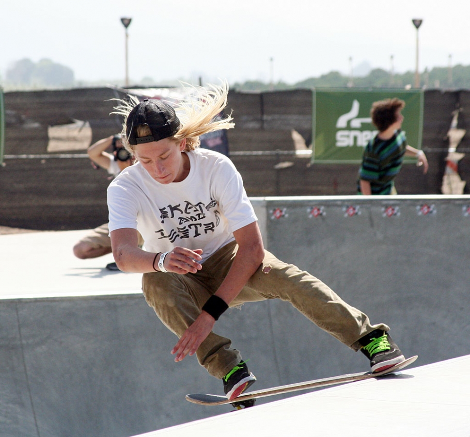
<instances>
[{"instance_id":1,"label":"flat white concrete deck at left under the crouching photographer","mask_svg":"<svg viewBox=\"0 0 470 437\"><path fill-rule=\"evenodd\" d=\"M0 235L0 299L141 293L141 275L109 271L111 254L78 259L72 248L88 230Z\"/></svg>"}]
</instances>

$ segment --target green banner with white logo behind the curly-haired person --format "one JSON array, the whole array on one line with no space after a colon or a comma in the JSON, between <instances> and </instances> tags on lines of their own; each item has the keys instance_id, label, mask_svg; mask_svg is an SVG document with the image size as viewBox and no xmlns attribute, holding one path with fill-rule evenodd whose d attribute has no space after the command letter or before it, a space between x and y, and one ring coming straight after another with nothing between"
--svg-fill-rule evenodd
<instances>
[{"instance_id":1,"label":"green banner with white logo behind the curly-haired person","mask_svg":"<svg viewBox=\"0 0 470 437\"><path fill-rule=\"evenodd\" d=\"M423 92L421 90L315 90L313 92L313 154L317 163L360 163L364 147L377 133L372 103L398 97L405 101L402 129L410 146L421 148ZM414 162L413 160L409 160Z\"/></svg>"}]
</instances>

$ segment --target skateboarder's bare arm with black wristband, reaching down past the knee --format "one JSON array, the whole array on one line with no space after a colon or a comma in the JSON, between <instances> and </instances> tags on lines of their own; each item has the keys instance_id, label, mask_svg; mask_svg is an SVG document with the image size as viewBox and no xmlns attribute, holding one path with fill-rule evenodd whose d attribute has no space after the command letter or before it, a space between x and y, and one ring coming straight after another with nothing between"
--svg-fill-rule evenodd
<instances>
[{"instance_id":1,"label":"skateboarder's bare arm with black wristband, reaching down past the knee","mask_svg":"<svg viewBox=\"0 0 470 437\"><path fill-rule=\"evenodd\" d=\"M238 229L234 232L234 236L238 250L227 276L215 293L227 305L235 299L248 279L256 272L265 255L261 232L256 222ZM174 360L181 361L188 354L194 355L212 331L215 322L210 314L202 311L172 349L172 354L176 354Z\"/></svg>"}]
</instances>

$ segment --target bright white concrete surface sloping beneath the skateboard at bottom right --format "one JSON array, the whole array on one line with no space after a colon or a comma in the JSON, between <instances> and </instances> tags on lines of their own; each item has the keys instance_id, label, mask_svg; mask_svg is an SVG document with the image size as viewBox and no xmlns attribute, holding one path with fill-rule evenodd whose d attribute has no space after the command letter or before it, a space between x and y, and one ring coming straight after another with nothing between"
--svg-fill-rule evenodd
<instances>
[{"instance_id":1,"label":"bright white concrete surface sloping beneath the skateboard at bottom right","mask_svg":"<svg viewBox=\"0 0 470 437\"><path fill-rule=\"evenodd\" d=\"M135 437L468 437L469 390L463 356Z\"/></svg>"}]
</instances>

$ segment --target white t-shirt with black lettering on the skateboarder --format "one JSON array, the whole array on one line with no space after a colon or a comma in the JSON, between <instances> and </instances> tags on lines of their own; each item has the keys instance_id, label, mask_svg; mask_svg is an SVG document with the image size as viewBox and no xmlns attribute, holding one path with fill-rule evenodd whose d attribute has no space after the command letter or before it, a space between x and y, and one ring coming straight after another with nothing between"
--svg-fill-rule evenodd
<instances>
[{"instance_id":1,"label":"white t-shirt with black lettering on the skateboarder","mask_svg":"<svg viewBox=\"0 0 470 437\"><path fill-rule=\"evenodd\" d=\"M187 155L181 182L160 184L139 162L123 170L108 187L109 228L137 229L149 252L203 249L204 262L257 217L229 158L201 148Z\"/></svg>"}]
</instances>

